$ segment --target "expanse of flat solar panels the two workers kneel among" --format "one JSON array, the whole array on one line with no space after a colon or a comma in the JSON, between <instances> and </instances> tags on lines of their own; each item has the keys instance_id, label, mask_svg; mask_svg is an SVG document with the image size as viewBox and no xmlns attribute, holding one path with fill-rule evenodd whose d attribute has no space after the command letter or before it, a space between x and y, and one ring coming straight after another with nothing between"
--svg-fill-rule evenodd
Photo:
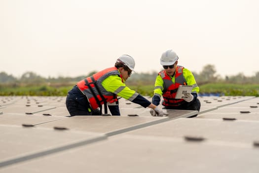
<instances>
[{"instance_id":1,"label":"expanse of flat solar panels the two workers kneel among","mask_svg":"<svg viewBox=\"0 0 259 173\"><path fill-rule=\"evenodd\" d=\"M199 97L199 114L165 117L123 98L121 116L70 117L65 99L0 97L0 173L258 173L259 97Z\"/></svg>"}]
</instances>

